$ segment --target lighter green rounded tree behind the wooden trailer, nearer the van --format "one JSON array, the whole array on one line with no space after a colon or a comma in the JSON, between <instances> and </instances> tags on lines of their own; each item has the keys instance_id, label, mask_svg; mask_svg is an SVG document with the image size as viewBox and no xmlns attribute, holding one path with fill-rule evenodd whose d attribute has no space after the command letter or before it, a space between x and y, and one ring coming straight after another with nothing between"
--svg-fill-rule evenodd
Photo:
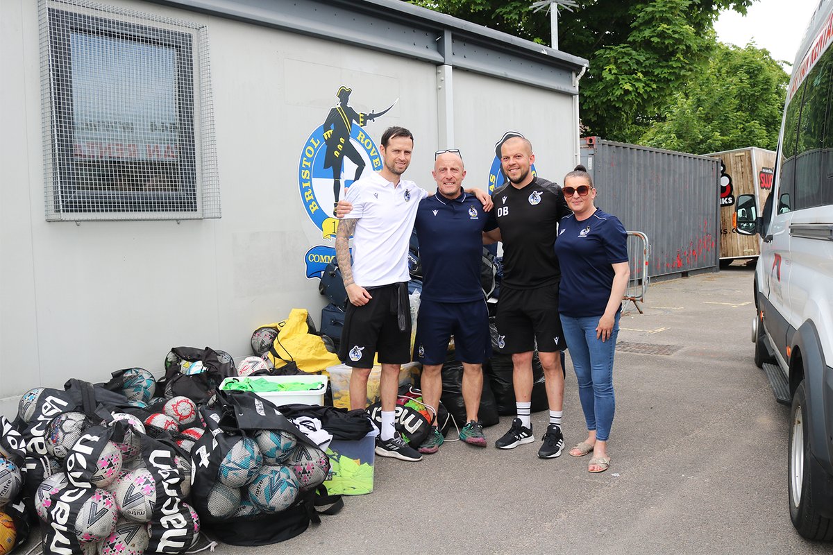
<instances>
[{"instance_id":1,"label":"lighter green rounded tree behind the wooden trailer, nearer the van","mask_svg":"<svg viewBox=\"0 0 833 555\"><path fill-rule=\"evenodd\" d=\"M694 153L775 150L789 81L784 69L752 44L715 42L709 54L637 142Z\"/></svg>"}]
</instances>

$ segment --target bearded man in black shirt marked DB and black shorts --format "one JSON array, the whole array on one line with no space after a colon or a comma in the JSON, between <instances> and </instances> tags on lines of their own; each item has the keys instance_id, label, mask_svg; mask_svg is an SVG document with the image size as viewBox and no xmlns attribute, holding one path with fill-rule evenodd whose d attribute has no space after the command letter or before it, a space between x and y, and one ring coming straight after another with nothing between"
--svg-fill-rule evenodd
<instances>
[{"instance_id":1,"label":"bearded man in black shirt marked DB and black shorts","mask_svg":"<svg viewBox=\"0 0 833 555\"><path fill-rule=\"evenodd\" d=\"M509 181L491 195L492 223L498 230L486 236L503 241L503 281L497 304L498 348L512 354L517 418L495 442L511 449L535 441L530 422L532 352L536 348L546 379L550 424L538 451L555 458L564 448L561 417L564 374L561 351L566 349L558 314L561 270L554 245L558 221L570 214L561 187L534 176L532 146L518 133L507 133L496 146ZM489 229L491 225L486 225Z\"/></svg>"}]
</instances>

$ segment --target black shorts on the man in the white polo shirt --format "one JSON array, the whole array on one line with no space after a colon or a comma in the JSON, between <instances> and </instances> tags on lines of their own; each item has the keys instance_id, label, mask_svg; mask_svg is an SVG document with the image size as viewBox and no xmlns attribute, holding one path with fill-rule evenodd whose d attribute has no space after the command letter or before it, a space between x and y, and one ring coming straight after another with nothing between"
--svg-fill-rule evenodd
<instances>
[{"instance_id":1,"label":"black shorts on the man in the white polo shirt","mask_svg":"<svg viewBox=\"0 0 833 555\"><path fill-rule=\"evenodd\" d=\"M401 287L394 284L368 290L372 299L364 306L347 303L342 343L338 349L338 358L344 364L353 368L373 368L377 353L381 364L411 362L411 308L407 285L404 295ZM404 331L399 330L397 297L399 302L404 302Z\"/></svg>"}]
</instances>

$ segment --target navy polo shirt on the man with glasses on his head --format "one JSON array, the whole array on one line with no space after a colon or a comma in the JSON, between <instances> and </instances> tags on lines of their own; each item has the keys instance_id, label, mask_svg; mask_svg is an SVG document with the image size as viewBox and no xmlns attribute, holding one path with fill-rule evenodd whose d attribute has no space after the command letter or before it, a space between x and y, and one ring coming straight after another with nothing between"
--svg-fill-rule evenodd
<instances>
[{"instance_id":1,"label":"navy polo shirt on the man with glasses on his head","mask_svg":"<svg viewBox=\"0 0 833 555\"><path fill-rule=\"evenodd\" d=\"M488 220L481 201L461 191L454 200L436 191L416 210L416 238L422 263L421 298L444 303L483 299L482 231Z\"/></svg>"}]
</instances>

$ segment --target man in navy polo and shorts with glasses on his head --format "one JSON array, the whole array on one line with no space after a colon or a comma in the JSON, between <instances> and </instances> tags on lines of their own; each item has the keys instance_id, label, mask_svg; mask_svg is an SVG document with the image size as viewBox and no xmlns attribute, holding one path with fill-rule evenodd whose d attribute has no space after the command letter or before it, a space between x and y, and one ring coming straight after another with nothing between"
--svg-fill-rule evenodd
<instances>
[{"instance_id":1,"label":"man in navy polo and shorts with glasses on his head","mask_svg":"<svg viewBox=\"0 0 833 555\"><path fill-rule=\"evenodd\" d=\"M481 290L482 232L489 213L462 188L466 169L460 151L446 149L435 156L431 173L436 195L420 201L414 224L423 270L414 360L422 363L422 400L436 407L442 394L442 364L454 335L456 358L463 365L466 404L460 439L486 447L477 410L483 389L482 364L491 355L489 313ZM442 434L433 427L419 452L436 453L442 442Z\"/></svg>"}]
</instances>

